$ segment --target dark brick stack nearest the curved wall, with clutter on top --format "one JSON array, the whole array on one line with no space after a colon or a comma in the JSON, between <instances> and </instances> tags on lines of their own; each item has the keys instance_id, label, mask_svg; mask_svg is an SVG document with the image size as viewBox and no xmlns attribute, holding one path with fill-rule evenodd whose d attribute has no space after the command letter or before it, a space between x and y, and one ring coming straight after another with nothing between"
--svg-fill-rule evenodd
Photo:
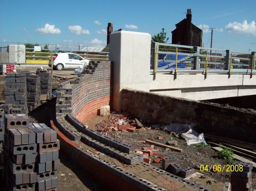
<instances>
[{"instance_id":1,"label":"dark brick stack nearest the curved wall, with clutter on top","mask_svg":"<svg viewBox=\"0 0 256 191\"><path fill-rule=\"evenodd\" d=\"M51 97L51 72L49 70L42 71L37 69L36 74L40 77L41 81L41 94L47 94L47 99L50 99Z\"/></svg>"}]
</instances>

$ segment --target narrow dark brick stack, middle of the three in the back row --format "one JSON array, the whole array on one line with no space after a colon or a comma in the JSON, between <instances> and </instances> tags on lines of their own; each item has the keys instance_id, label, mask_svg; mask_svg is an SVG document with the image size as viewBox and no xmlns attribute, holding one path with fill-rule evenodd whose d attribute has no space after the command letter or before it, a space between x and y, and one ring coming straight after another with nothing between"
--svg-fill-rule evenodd
<instances>
[{"instance_id":1,"label":"narrow dark brick stack, middle of the three in the back row","mask_svg":"<svg viewBox=\"0 0 256 191\"><path fill-rule=\"evenodd\" d=\"M27 78L27 90L28 90L28 112L34 110L41 105L41 83L40 77L36 75L30 75Z\"/></svg>"}]
</instances>

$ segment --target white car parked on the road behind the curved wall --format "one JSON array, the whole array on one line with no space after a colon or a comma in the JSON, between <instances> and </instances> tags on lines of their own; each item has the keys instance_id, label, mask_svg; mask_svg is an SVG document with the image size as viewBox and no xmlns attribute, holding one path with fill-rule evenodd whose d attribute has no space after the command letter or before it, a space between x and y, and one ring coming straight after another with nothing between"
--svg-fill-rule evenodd
<instances>
[{"instance_id":1,"label":"white car parked on the road behind the curved wall","mask_svg":"<svg viewBox=\"0 0 256 191\"><path fill-rule=\"evenodd\" d=\"M53 58L53 68L56 70L62 70L63 68L77 68L78 66L83 66L84 63L89 64L88 59L84 59L78 54L74 53L56 53ZM49 64L51 67L51 59L49 59Z\"/></svg>"}]
</instances>

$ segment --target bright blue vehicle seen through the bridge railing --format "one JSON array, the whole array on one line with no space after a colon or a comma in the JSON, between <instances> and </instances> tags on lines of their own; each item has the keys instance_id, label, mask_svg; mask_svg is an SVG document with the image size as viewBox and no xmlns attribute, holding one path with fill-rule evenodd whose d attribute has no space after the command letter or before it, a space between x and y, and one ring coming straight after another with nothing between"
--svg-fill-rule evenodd
<instances>
[{"instance_id":1,"label":"bright blue vehicle seen through the bridge railing","mask_svg":"<svg viewBox=\"0 0 256 191\"><path fill-rule=\"evenodd\" d=\"M177 55L177 68L186 68L186 63L183 63L186 61L185 58L186 55L181 55L178 54ZM182 59L182 60L181 60ZM158 54L158 67L164 67L166 65L168 65L166 68L164 67L164 69L168 69L168 68L175 68L175 62L176 62L176 54L162 54L159 53Z\"/></svg>"}]
</instances>

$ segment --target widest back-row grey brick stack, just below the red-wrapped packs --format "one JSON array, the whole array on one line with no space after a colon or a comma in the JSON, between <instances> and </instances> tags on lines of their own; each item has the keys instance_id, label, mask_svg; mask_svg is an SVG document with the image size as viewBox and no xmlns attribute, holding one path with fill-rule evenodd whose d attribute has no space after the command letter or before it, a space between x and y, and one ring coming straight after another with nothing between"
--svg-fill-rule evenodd
<instances>
[{"instance_id":1,"label":"widest back-row grey brick stack, just below the red-wrapped packs","mask_svg":"<svg viewBox=\"0 0 256 191\"><path fill-rule=\"evenodd\" d=\"M12 108L19 109L28 114L27 109L27 87L25 73L6 74L6 103L11 103Z\"/></svg>"}]
</instances>

